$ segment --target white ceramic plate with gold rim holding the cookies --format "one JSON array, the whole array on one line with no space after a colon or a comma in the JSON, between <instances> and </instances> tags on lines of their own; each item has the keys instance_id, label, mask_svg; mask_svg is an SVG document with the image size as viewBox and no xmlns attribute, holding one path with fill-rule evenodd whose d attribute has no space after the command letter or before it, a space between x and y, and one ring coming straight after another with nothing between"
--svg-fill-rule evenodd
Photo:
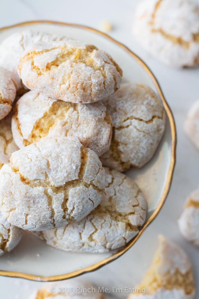
<instances>
[{"instance_id":1,"label":"white ceramic plate with gold rim holding the cookies","mask_svg":"<svg viewBox=\"0 0 199 299\"><path fill-rule=\"evenodd\" d=\"M120 257L140 237L143 230L157 216L169 192L175 164L176 131L169 109L157 80L149 68L128 48L104 33L84 26L56 22L28 22L0 30L0 42L10 34L25 29L65 35L96 45L107 51L123 70L123 82L142 83L159 94L167 113L166 130L153 159L142 169L127 171L148 202L147 222L140 233L119 251L105 254L79 254L61 251L45 244L24 231L22 241L9 254L0 258L0 275L32 280L61 280L93 271Z\"/></svg>"}]
</instances>

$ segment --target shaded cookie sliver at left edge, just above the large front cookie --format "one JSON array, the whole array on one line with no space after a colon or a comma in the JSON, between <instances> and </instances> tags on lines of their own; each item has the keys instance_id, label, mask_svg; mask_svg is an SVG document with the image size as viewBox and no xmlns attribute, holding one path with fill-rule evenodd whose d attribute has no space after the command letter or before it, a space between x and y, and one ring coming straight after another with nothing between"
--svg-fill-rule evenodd
<instances>
[{"instance_id":1,"label":"shaded cookie sliver at left edge, just above the large front cookie","mask_svg":"<svg viewBox=\"0 0 199 299\"><path fill-rule=\"evenodd\" d=\"M16 146L11 131L12 114L0 120L0 155L10 155L19 148Z\"/></svg>"}]
</instances>

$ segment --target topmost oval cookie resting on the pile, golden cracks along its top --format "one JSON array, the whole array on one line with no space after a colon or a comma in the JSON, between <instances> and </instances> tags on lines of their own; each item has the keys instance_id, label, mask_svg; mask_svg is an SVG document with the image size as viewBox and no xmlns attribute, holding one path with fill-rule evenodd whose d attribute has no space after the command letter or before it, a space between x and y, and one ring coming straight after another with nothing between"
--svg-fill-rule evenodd
<instances>
[{"instance_id":1,"label":"topmost oval cookie resting on the pile, golden cracks along its top","mask_svg":"<svg viewBox=\"0 0 199 299\"><path fill-rule=\"evenodd\" d=\"M18 74L29 89L49 97L93 103L120 87L122 71L112 57L95 46L68 40L27 47Z\"/></svg>"}]
</instances>

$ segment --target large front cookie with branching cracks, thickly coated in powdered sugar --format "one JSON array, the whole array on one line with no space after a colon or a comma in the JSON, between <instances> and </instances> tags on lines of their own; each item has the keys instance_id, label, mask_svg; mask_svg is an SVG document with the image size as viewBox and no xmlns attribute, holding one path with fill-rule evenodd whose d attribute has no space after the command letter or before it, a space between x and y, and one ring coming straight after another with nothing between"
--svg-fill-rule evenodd
<instances>
[{"instance_id":1,"label":"large front cookie with branching cracks, thickly coated in powdered sugar","mask_svg":"<svg viewBox=\"0 0 199 299\"><path fill-rule=\"evenodd\" d=\"M12 225L45 230L80 221L99 205L105 171L78 139L43 139L0 170L0 210Z\"/></svg>"}]
</instances>

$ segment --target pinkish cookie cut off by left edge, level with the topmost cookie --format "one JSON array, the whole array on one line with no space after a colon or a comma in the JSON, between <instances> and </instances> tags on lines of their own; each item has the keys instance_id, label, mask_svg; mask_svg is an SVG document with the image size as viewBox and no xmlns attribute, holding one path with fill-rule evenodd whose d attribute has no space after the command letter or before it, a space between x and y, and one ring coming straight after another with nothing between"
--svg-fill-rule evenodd
<instances>
[{"instance_id":1,"label":"pinkish cookie cut off by left edge, level with the topmost cookie","mask_svg":"<svg viewBox=\"0 0 199 299\"><path fill-rule=\"evenodd\" d=\"M0 120L11 111L15 96L16 87L12 73L0 67Z\"/></svg>"}]
</instances>

